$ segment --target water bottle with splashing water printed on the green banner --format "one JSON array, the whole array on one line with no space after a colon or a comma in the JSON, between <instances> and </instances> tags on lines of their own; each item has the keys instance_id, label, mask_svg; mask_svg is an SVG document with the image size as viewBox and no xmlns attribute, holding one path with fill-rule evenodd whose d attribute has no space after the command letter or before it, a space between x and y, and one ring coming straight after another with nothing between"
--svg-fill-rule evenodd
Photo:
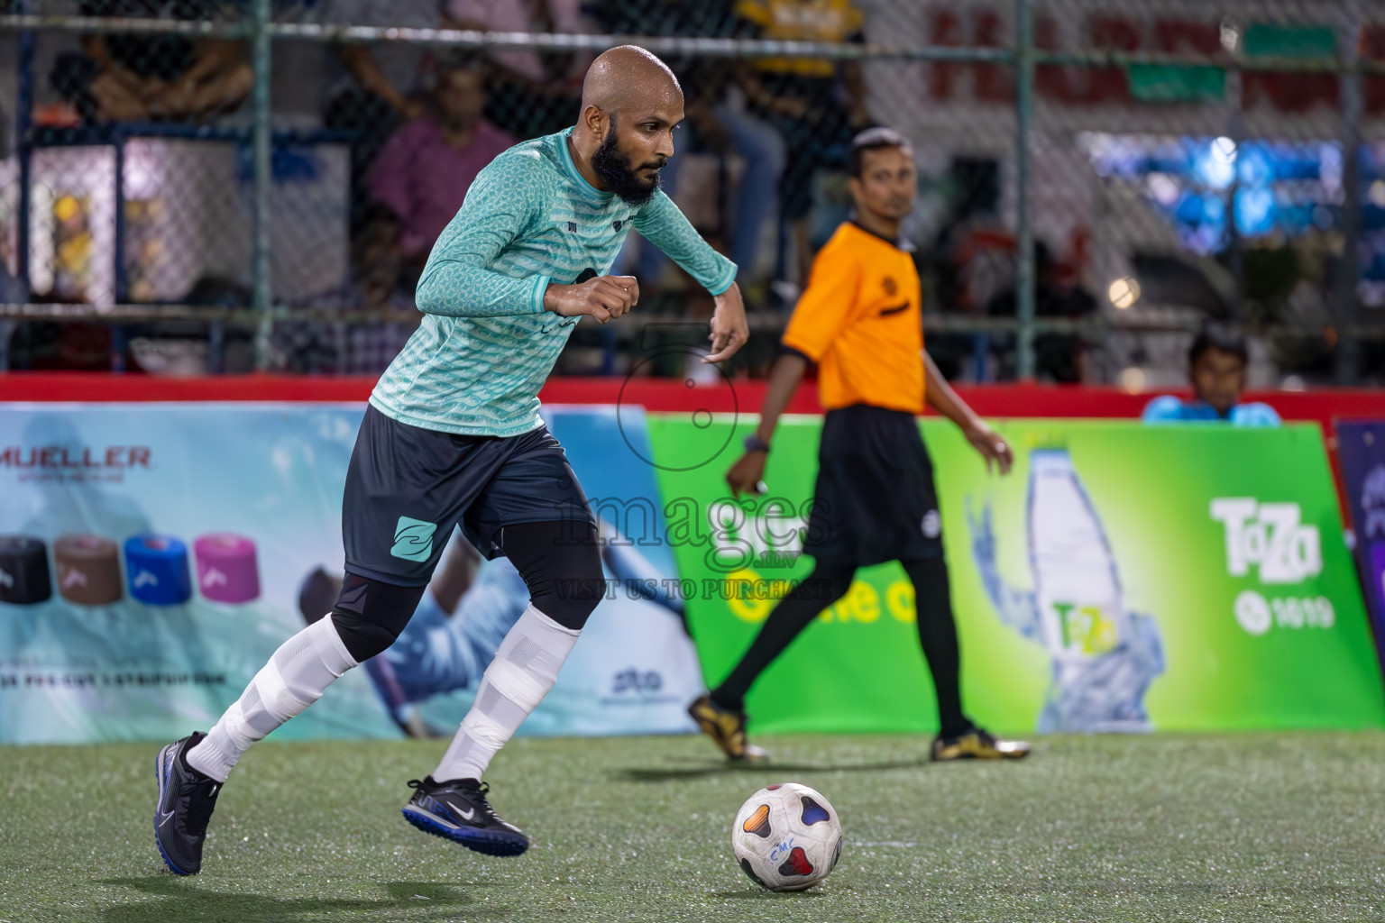
<instances>
[{"instance_id":1,"label":"water bottle with splashing water printed on the green banner","mask_svg":"<svg viewBox=\"0 0 1385 923\"><path fill-rule=\"evenodd\" d=\"M1148 731L1144 696L1163 673L1154 619L1126 609L1105 527L1066 448L1029 454L1026 538L1035 590L999 573L990 509L972 515L972 558L1003 621L1048 652L1037 729Z\"/></svg>"}]
</instances>

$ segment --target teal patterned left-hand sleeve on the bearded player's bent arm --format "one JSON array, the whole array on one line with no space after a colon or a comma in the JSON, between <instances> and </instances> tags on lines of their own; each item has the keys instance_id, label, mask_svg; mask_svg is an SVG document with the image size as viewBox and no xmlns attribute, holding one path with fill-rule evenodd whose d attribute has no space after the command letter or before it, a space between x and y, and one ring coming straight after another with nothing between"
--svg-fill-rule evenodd
<instances>
[{"instance_id":1,"label":"teal patterned left-hand sleeve on the bearded player's bent arm","mask_svg":"<svg viewBox=\"0 0 1385 923\"><path fill-rule=\"evenodd\" d=\"M483 169L428 256L418 310L445 317L542 314L548 275L515 277L490 267L543 214L546 185L535 158L501 156Z\"/></svg>"}]
</instances>

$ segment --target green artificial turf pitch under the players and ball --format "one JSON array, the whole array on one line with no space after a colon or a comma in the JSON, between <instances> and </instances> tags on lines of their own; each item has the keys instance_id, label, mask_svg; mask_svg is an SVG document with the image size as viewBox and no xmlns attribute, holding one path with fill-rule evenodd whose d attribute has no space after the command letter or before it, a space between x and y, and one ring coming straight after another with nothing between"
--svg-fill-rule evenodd
<instances>
[{"instance_id":1,"label":"green artificial turf pitch under the players and ball","mask_svg":"<svg viewBox=\"0 0 1385 923\"><path fill-rule=\"evenodd\" d=\"M1018 764L921 738L521 739L493 801L533 837L493 859L399 815L442 743L283 743L237 768L202 875L152 843L151 744L0 747L0 920L1385 919L1385 733L1047 738ZM842 862L770 894L730 858L762 785L837 807Z\"/></svg>"}]
</instances>

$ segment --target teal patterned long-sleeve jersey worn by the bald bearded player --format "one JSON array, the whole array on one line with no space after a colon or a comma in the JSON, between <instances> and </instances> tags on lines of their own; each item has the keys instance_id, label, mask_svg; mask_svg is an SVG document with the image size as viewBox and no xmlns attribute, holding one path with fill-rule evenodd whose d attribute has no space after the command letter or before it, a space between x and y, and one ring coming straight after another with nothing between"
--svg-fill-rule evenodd
<instances>
[{"instance_id":1,"label":"teal patterned long-sleeve jersey worn by the bald bearded player","mask_svg":"<svg viewBox=\"0 0 1385 923\"><path fill-rule=\"evenodd\" d=\"M418 282L422 324L370 396L382 414L445 433L537 429L539 389L579 320L544 311L543 293L609 273L632 227L713 295L731 286L735 264L668 195L634 206L582 179L571 131L517 144L476 174Z\"/></svg>"}]
</instances>

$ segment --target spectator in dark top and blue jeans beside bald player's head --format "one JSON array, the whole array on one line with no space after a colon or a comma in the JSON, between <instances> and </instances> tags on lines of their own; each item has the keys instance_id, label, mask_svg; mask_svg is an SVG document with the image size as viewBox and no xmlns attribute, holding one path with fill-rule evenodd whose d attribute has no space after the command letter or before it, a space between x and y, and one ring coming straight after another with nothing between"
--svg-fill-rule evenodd
<instances>
[{"instance_id":1,"label":"spectator in dark top and blue jeans beside bald player's head","mask_svg":"<svg viewBox=\"0 0 1385 923\"><path fill-rule=\"evenodd\" d=\"M684 36L730 39L749 32L734 14L737 0L666 0L662 4L604 0L591 4L591 17L611 35ZM745 170L734 199L734 219L723 216L724 237L730 238L731 262L740 268L745 288L755 271L765 219L774 205L774 191L784 174L784 140L774 126L745 111L738 75L726 61L705 55L663 55L683 87L686 120L676 136L673 158L661 172L663 191L677 191L679 165L684 154L738 155ZM723 201L730 197L723 194ZM715 232L713 228L704 228ZM668 257L654 246L641 246L636 273L648 291L656 288Z\"/></svg>"}]
</instances>

